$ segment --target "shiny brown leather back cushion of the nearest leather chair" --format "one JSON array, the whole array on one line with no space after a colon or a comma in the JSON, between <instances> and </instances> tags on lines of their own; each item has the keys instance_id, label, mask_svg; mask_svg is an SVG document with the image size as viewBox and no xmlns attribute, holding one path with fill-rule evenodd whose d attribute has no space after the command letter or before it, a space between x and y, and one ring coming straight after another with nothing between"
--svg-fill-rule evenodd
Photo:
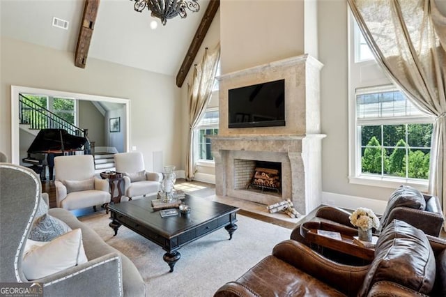
<instances>
[{"instance_id":1,"label":"shiny brown leather back cushion of the nearest leather chair","mask_svg":"<svg viewBox=\"0 0 446 297\"><path fill-rule=\"evenodd\" d=\"M394 282L429 295L436 279L436 259L426 235L401 220L393 220L378 238L375 259L360 294L367 296L379 281Z\"/></svg>"}]
</instances>

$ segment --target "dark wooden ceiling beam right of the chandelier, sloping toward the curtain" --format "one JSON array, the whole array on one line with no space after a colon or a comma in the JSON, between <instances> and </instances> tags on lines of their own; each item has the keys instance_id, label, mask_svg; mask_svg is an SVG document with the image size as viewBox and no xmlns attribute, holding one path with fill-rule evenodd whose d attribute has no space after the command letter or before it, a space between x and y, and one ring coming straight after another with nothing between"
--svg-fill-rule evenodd
<instances>
[{"instance_id":1,"label":"dark wooden ceiling beam right of the chandelier, sloping toward the curtain","mask_svg":"<svg viewBox=\"0 0 446 297\"><path fill-rule=\"evenodd\" d=\"M178 86L178 88L183 86L183 82L186 79L187 73L189 73L190 66L192 66L192 63L194 63L195 56L197 56L197 52L201 46L201 43L203 43L203 39L205 38L206 33L208 33L210 24L214 20L215 13L217 13L219 7L220 0L209 1L208 8L206 8L206 11L204 12L197 32L195 32L195 36L192 39L192 43L190 43L189 50L187 50L180 70L176 75L176 85Z\"/></svg>"}]
</instances>

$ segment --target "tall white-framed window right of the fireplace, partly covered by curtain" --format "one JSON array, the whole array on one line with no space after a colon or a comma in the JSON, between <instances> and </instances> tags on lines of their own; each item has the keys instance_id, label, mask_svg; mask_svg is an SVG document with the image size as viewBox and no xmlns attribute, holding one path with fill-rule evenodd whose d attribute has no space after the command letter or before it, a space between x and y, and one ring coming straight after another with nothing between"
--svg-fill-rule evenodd
<instances>
[{"instance_id":1,"label":"tall white-framed window right of the fireplace, partly covered by curtain","mask_svg":"<svg viewBox=\"0 0 446 297\"><path fill-rule=\"evenodd\" d=\"M427 187L433 119L378 66L349 14L350 181Z\"/></svg>"}]
</instances>

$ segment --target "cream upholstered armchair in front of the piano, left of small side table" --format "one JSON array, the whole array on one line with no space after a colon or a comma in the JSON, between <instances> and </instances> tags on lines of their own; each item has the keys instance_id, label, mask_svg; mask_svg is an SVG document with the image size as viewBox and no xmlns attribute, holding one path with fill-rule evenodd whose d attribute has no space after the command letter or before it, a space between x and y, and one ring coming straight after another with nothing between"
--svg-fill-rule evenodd
<instances>
[{"instance_id":1,"label":"cream upholstered armchair in front of the piano, left of small side table","mask_svg":"<svg viewBox=\"0 0 446 297\"><path fill-rule=\"evenodd\" d=\"M109 183L95 176L92 155L63 155L54 158L57 207L68 211L105 205L110 201Z\"/></svg>"}]
</instances>

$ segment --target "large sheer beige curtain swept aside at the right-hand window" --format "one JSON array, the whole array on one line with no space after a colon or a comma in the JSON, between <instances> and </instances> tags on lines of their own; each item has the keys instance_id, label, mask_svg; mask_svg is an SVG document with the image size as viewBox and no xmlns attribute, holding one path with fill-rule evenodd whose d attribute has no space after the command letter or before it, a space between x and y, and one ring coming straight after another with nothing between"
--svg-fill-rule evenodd
<instances>
[{"instance_id":1,"label":"large sheer beige curtain swept aside at the right-hand window","mask_svg":"<svg viewBox=\"0 0 446 297\"><path fill-rule=\"evenodd\" d=\"M348 0L378 63L423 112L435 117L429 192L446 213L446 17L433 0Z\"/></svg>"}]
</instances>

